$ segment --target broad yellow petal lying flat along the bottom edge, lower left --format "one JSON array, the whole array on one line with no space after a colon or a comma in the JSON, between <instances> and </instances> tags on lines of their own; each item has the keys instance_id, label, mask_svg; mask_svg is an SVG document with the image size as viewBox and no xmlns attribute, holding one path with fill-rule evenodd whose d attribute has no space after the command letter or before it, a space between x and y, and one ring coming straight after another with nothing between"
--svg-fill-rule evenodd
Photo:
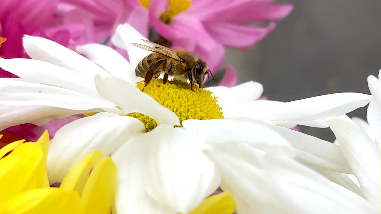
<instances>
[{"instance_id":1,"label":"broad yellow petal lying flat along the bottom edge, lower left","mask_svg":"<svg viewBox=\"0 0 381 214\"><path fill-rule=\"evenodd\" d=\"M61 188L39 188L16 196L6 204L4 211L17 214L79 214L80 196L75 191Z\"/></svg>"}]
</instances>

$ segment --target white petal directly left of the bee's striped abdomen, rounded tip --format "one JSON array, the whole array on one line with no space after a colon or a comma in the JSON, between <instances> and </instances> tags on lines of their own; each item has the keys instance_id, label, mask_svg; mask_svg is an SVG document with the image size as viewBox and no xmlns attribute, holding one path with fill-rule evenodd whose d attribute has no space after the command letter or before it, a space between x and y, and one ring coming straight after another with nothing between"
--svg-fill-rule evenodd
<instances>
[{"instance_id":1,"label":"white petal directly left of the bee's striped abdomen, rounded tip","mask_svg":"<svg viewBox=\"0 0 381 214\"><path fill-rule=\"evenodd\" d=\"M85 54L88 59L104 68L114 77L136 83L136 81L131 79L131 77L136 77L136 75L134 70L131 69L130 63L109 46L100 44L82 45L77 47L77 52Z\"/></svg>"}]
</instances>

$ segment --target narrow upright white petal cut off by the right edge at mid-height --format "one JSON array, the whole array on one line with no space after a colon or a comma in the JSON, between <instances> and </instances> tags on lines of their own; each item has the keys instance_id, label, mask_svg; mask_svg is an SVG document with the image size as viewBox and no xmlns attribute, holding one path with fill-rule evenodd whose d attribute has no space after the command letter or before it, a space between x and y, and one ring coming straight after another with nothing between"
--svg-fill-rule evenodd
<instances>
[{"instance_id":1,"label":"narrow upright white petal cut off by the right edge at mid-height","mask_svg":"<svg viewBox=\"0 0 381 214\"><path fill-rule=\"evenodd\" d=\"M381 108L376 104L374 98L370 101L367 109L367 120L373 133L376 145L381 146Z\"/></svg>"}]
</instances>

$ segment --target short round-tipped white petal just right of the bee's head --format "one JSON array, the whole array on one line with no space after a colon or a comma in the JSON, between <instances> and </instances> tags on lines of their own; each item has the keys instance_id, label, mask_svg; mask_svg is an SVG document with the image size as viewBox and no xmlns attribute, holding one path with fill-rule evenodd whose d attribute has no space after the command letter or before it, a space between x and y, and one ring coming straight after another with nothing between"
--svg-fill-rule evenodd
<instances>
[{"instance_id":1,"label":"short round-tipped white petal just right of the bee's head","mask_svg":"<svg viewBox=\"0 0 381 214\"><path fill-rule=\"evenodd\" d=\"M232 88L224 86L208 87L207 90L213 92L213 95L218 97L218 104L223 111L231 104L240 101L253 101L258 99L263 93L261 83L248 81Z\"/></svg>"}]
</instances>

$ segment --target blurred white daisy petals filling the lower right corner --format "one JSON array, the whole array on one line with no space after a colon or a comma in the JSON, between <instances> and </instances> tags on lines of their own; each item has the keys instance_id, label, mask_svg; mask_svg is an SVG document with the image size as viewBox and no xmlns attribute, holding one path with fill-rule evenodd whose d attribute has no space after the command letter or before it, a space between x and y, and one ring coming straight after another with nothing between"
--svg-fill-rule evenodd
<instances>
[{"instance_id":1,"label":"blurred white daisy petals filling the lower right corner","mask_svg":"<svg viewBox=\"0 0 381 214\"><path fill-rule=\"evenodd\" d=\"M338 171L309 167L282 153L265 154L245 143L205 150L222 174L221 189L235 196L237 213L380 212L379 148L346 115L327 122L360 188Z\"/></svg>"}]
</instances>

